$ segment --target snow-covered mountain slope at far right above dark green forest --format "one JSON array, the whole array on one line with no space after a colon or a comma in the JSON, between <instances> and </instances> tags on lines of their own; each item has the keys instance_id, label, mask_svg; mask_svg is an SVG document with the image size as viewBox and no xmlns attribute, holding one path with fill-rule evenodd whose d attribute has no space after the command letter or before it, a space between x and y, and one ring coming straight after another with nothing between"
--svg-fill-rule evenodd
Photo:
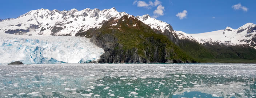
<instances>
[{"instance_id":1,"label":"snow-covered mountain slope at far right above dark green forest","mask_svg":"<svg viewBox=\"0 0 256 98\"><path fill-rule=\"evenodd\" d=\"M244 24L237 29L227 27L224 30L190 35L199 43L217 42L228 45L248 44L256 48L256 25L253 23Z\"/></svg>"}]
</instances>

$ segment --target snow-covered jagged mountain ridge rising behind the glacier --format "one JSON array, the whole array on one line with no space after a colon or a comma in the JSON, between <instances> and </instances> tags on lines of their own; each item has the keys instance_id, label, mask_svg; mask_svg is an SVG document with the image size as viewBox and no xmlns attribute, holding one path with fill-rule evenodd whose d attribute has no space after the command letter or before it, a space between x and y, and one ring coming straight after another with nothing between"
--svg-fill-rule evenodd
<instances>
[{"instance_id":1,"label":"snow-covered jagged mountain ridge rising behind the glacier","mask_svg":"<svg viewBox=\"0 0 256 98\"><path fill-rule=\"evenodd\" d=\"M78 31L100 28L110 18L128 15L111 9L31 10L16 19L0 22L0 31L8 34L66 35L75 36Z\"/></svg>"}]
</instances>

